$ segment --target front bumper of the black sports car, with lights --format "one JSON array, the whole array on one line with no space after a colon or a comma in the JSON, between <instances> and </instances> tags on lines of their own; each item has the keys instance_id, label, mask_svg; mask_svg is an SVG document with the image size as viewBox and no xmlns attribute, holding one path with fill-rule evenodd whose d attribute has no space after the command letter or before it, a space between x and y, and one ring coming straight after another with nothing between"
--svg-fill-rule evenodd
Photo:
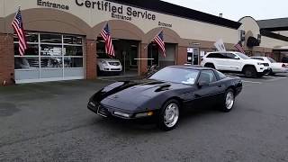
<instances>
[{"instance_id":1,"label":"front bumper of the black sports car, with lights","mask_svg":"<svg viewBox=\"0 0 288 162\"><path fill-rule=\"evenodd\" d=\"M109 117L116 117L116 118L121 118L125 120L133 120L133 119L142 119L142 118L150 118L153 116L156 116L157 111L142 111L142 112L129 112L129 111L124 111L118 108L114 108L111 106L99 104L99 103L94 103L94 102L89 102L87 104L87 108L102 116L105 118Z\"/></svg>"}]
</instances>

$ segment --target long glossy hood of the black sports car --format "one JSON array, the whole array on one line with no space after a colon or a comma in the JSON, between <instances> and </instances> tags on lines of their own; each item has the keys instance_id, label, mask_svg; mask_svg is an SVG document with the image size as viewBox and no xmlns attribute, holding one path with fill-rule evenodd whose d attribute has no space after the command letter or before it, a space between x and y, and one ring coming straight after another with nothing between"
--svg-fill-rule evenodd
<instances>
[{"instance_id":1,"label":"long glossy hood of the black sports car","mask_svg":"<svg viewBox=\"0 0 288 162\"><path fill-rule=\"evenodd\" d=\"M93 100L116 108L131 110L148 102L156 95L187 86L189 85L157 80L117 82L94 94Z\"/></svg>"}]
</instances>

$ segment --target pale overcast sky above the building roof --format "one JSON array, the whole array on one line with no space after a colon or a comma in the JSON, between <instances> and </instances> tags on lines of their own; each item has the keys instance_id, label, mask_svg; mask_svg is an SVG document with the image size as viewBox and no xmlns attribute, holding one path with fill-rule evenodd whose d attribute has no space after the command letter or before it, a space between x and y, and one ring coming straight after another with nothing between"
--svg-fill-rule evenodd
<instances>
[{"instance_id":1,"label":"pale overcast sky above the building roof","mask_svg":"<svg viewBox=\"0 0 288 162\"><path fill-rule=\"evenodd\" d=\"M288 17L288 0L163 0L207 14L223 14L223 18L238 21L244 16L256 20Z\"/></svg>"}]
</instances>

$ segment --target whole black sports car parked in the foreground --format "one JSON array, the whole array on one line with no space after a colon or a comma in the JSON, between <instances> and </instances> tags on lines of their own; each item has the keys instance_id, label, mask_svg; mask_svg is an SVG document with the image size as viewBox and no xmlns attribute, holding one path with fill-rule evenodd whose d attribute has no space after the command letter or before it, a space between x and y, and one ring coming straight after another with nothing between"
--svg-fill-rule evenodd
<instances>
[{"instance_id":1,"label":"whole black sports car parked in the foreground","mask_svg":"<svg viewBox=\"0 0 288 162\"><path fill-rule=\"evenodd\" d=\"M141 81L117 82L94 94L88 109L103 117L154 117L162 130L175 128L184 108L219 104L229 112L242 90L239 77L209 67L165 67Z\"/></svg>"}]
</instances>

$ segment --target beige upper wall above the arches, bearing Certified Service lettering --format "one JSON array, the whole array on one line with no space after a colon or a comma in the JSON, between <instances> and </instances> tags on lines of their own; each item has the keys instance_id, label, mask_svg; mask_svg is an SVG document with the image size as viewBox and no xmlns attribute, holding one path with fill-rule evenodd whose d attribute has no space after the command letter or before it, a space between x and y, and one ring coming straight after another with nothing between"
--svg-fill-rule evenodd
<instances>
[{"instance_id":1,"label":"beige upper wall above the arches, bearing Certified Service lettering","mask_svg":"<svg viewBox=\"0 0 288 162\"><path fill-rule=\"evenodd\" d=\"M80 19L84 20L85 23L89 24L90 27L94 27L95 25L105 22L107 20L115 20L112 19L111 13L99 11L97 9L88 9L85 6L76 5L75 0L49 0L50 3L57 4L67 4L69 6L69 10L65 11L70 14L74 14ZM68 3L69 2L69 3ZM4 10L1 9L2 14L0 17L5 17L10 14L14 14L17 10L18 6L21 6L22 10L27 10L31 8L41 8L42 6L37 5L36 0L1 0L2 7L5 7ZM4 4L5 3L5 4ZM115 6L120 6L120 4L114 4ZM127 5L123 5L123 13L126 12ZM133 9L136 9L132 7ZM137 11L145 12L145 10L137 9ZM192 21L184 18L179 18L166 14L158 14L155 12L150 12L150 14L156 14L156 21L150 21L140 18L132 18L132 21L128 21L130 23L135 24L142 30L144 33L155 29L158 26L158 22L162 23L171 23L173 25L173 31L177 32L177 34L183 39L191 39L191 40L210 40L216 41L219 39L224 40L226 43L236 43L238 41L238 30L230 29L227 27L222 27L219 25L214 25L210 23L202 23L197 21ZM125 15L125 14L124 14ZM29 30L29 29L28 29Z\"/></svg>"}]
</instances>

